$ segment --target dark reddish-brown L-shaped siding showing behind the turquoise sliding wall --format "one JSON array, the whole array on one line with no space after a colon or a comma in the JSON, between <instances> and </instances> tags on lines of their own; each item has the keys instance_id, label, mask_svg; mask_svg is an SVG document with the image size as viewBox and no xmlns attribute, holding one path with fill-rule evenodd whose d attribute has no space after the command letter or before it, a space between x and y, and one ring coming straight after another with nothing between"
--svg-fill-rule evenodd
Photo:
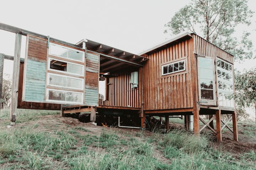
<instances>
[{"instance_id":1,"label":"dark reddish-brown L-shaped siding showing behind the turquoise sliding wall","mask_svg":"<svg viewBox=\"0 0 256 170\"><path fill-rule=\"evenodd\" d=\"M60 104L22 102L23 75L24 75L24 63L20 63L19 86L18 86L18 105L17 105L17 108L21 108L21 109L60 110Z\"/></svg>"}]
</instances>

